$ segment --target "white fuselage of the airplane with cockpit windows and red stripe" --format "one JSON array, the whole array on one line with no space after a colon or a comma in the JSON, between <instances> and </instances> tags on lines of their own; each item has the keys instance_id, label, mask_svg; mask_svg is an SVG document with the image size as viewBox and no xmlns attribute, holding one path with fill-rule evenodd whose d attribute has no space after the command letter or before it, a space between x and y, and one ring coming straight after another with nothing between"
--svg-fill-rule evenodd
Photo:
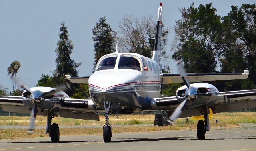
<instances>
[{"instance_id":1,"label":"white fuselage of the airplane with cockpit windows and red stripe","mask_svg":"<svg viewBox=\"0 0 256 151\"><path fill-rule=\"evenodd\" d=\"M134 65L132 59L136 59ZM107 66L111 64L112 67ZM103 56L89 78L90 96L95 104L111 101L121 107L142 109L146 98L159 97L160 90L159 65L136 53Z\"/></svg>"}]
</instances>

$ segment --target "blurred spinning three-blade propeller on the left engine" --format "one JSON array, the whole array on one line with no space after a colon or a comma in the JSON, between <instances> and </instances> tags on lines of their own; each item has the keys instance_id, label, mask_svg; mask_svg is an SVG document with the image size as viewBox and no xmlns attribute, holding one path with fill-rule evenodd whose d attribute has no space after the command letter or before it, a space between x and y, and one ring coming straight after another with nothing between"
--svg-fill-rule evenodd
<instances>
[{"instance_id":1,"label":"blurred spinning three-blade propeller on the left engine","mask_svg":"<svg viewBox=\"0 0 256 151\"><path fill-rule=\"evenodd\" d=\"M31 110L31 113L30 113L30 125L29 125L29 129L28 129L28 133L33 133L34 132L36 113L37 113L37 105L40 104L41 100L43 98L47 98L49 96L52 96L56 92L71 90L70 84L65 83L65 84L62 84L60 86L57 86L54 90L51 90L49 92L42 92L40 90L32 91L21 80L16 78L14 76L14 73L10 73L9 77L12 78L16 83L18 83L21 88L23 88L24 90L31 93L29 99L30 99L30 102L32 102L34 104L34 106L33 106L32 110Z\"/></svg>"}]
</instances>

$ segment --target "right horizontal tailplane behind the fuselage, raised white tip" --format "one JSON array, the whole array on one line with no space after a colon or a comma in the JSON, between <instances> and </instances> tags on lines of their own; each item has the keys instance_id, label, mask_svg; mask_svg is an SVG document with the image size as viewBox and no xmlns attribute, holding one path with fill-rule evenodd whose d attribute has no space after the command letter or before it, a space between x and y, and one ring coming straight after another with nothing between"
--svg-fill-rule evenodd
<instances>
[{"instance_id":1,"label":"right horizontal tailplane behind the fuselage, raised white tip","mask_svg":"<svg viewBox=\"0 0 256 151\"><path fill-rule=\"evenodd\" d=\"M184 82L180 74L162 73L161 75L163 76L162 84ZM244 70L244 73L188 73L187 75L190 82L234 80L246 79L249 75L249 71Z\"/></svg>"}]
</instances>

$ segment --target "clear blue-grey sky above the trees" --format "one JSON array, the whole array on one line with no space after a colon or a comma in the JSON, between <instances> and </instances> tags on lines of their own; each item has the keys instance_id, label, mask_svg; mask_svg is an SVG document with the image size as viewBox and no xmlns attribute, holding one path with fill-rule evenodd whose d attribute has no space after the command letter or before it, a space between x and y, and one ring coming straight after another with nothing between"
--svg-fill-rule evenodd
<instances>
[{"instance_id":1,"label":"clear blue-grey sky above the trees","mask_svg":"<svg viewBox=\"0 0 256 151\"><path fill-rule=\"evenodd\" d=\"M163 3L163 23L174 27L181 18L178 8L188 8L192 0L0 0L0 86L12 90L7 68L12 61L21 63L16 76L27 86L36 85L42 74L52 76L56 69L57 42L60 23L65 22L69 39L74 44L71 58L82 62L79 76L90 76L94 63L92 29L106 16L106 23L117 33L124 14L137 18L152 16ZM216 14L226 16L232 5L253 4L255 0L194 0L194 7L212 2ZM166 52L172 53L170 44L174 38L171 30ZM177 73L175 61L167 63L172 73Z\"/></svg>"}]
</instances>

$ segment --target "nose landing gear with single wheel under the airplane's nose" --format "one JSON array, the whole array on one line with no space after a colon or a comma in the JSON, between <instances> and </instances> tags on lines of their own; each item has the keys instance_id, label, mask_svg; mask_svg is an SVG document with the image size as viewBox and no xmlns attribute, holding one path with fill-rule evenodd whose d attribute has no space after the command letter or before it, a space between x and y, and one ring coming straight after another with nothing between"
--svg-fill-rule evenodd
<instances>
[{"instance_id":1,"label":"nose landing gear with single wheel under the airplane's nose","mask_svg":"<svg viewBox=\"0 0 256 151\"><path fill-rule=\"evenodd\" d=\"M104 105L104 109L105 109L105 121L106 123L103 126L103 139L104 142L110 142L111 141L111 137L112 137L112 127L111 125L108 123L108 111L110 109L111 106L111 102L110 101L104 101L103 102Z\"/></svg>"}]
</instances>

